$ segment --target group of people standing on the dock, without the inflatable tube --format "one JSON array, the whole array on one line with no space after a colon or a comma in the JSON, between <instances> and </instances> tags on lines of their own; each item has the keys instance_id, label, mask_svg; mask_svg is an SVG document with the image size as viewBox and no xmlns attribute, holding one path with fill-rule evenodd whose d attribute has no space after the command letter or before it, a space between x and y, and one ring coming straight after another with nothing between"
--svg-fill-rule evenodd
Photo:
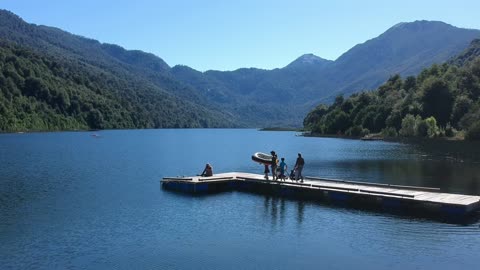
<instances>
[{"instance_id":1,"label":"group of people standing on the dock, without the inflatable tube","mask_svg":"<svg viewBox=\"0 0 480 270\"><path fill-rule=\"evenodd\" d=\"M287 179L286 172L288 169L287 164L285 163L285 158L281 158L280 163L278 163L278 156L275 151L271 151L270 154L272 155L272 164L270 165L272 169L272 179L275 180L282 180L285 181ZM290 180L303 182L302 170L303 166L305 165L305 160L302 157L302 154L298 153L297 161L293 166L293 170L290 173ZM265 179L268 180L268 174L270 173L270 168L267 164L265 164Z\"/></svg>"}]
</instances>

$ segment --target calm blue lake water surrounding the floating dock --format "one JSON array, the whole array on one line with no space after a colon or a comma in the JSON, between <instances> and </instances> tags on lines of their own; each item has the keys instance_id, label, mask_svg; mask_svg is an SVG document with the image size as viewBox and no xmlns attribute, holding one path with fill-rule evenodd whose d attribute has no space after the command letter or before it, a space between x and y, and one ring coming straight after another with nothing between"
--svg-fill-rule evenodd
<instances>
[{"instance_id":1,"label":"calm blue lake water surrounding the floating dock","mask_svg":"<svg viewBox=\"0 0 480 270\"><path fill-rule=\"evenodd\" d=\"M1 269L477 269L480 223L445 224L257 194L188 196L164 176L263 171L480 194L478 144L407 145L256 130L0 135Z\"/></svg>"}]
</instances>

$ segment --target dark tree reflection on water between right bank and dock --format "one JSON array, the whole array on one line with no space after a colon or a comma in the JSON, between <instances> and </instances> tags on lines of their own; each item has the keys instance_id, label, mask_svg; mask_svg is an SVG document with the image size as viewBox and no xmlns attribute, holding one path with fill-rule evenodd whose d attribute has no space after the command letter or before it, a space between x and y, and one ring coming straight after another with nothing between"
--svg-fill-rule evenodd
<instances>
[{"instance_id":1,"label":"dark tree reflection on water between right bank and dock","mask_svg":"<svg viewBox=\"0 0 480 270\"><path fill-rule=\"evenodd\" d=\"M480 194L480 143L425 141L409 144L356 142L310 157L307 175L398 185L439 187ZM336 158L330 157L335 152ZM342 154L340 154L342 153Z\"/></svg>"}]
</instances>

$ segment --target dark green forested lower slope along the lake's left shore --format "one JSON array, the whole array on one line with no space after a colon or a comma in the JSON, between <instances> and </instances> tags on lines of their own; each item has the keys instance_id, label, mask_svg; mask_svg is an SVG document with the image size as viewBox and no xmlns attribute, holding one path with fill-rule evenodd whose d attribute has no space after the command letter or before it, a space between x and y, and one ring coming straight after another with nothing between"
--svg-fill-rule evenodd
<instances>
[{"instance_id":1,"label":"dark green forested lower slope along the lake's left shore","mask_svg":"<svg viewBox=\"0 0 480 270\"><path fill-rule=\"evenodd\" d=\"M0 131L234 126L226 116L81 60L0 43Z\"/></svg>"}]
</instances>

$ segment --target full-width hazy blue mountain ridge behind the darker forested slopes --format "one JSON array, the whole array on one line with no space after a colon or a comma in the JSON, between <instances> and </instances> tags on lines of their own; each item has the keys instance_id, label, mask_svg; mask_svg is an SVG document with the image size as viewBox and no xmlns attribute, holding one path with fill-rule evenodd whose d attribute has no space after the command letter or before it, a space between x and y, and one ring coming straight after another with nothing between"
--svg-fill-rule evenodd
<instances>
[{"instance_id":1,"label":"full-width hazy blue mountain ridge behind the darker forested slopes","mask_svg":"<svg viewBox=\"0 0 480 270\"><path fill-rule=\"evenodd\" d=\"M223 119L210 122L215 126L268 127L300 126L306 113L319 102L329 102L340 93L373 89L396 73L414 75L433 63L445 62L471 40L480 38L480 31L442 22L400 23L354 46L335 61L305 54L273 70L206 72L181 65L170 67L150 53L28 24L9 11L0 11L0 38L45 57L92 65L126 79L130 87L138 88L139 96L143 96L143 90L136 85L148 85L160 96L188 101L194 111ZM160 96L158 104L162 103ZM210 126L206 120L200 122L193 126ZM188 123L180 126L187 127Z\"/></svg>"}]
</instances>

